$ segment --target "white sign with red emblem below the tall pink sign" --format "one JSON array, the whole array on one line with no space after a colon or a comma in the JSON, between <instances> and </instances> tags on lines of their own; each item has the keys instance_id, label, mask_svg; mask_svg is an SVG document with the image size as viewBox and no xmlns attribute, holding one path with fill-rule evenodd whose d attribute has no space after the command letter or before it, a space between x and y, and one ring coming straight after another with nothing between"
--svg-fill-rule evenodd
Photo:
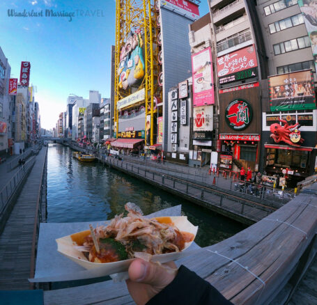
<instances>
[{"instance_id":1,"label":"white sign with red emblem below the tall pink sign","mask_svg":"<svg viewBox=\"0 0 317 305\"><path fill-rule=\"evenodd\" d=\"M194 107L193 109L193 139L212 139L213 109L212 106Z\"/></svg>"}]
</instances>

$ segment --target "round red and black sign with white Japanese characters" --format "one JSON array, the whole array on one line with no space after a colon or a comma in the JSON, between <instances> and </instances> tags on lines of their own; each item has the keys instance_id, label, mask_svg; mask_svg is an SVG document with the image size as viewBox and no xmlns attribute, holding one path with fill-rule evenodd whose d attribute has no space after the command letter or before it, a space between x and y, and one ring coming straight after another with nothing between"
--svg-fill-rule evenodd
<instances>
[{"instance_id":1,"label":"round red and black sign with white Japanese characters","mask_svg":"<svg viewBox=\"0 0 317 305\"><path fill-rule=\"evenodd\" d=\"M252 122L252 107L246 100L237 99L226 107L226 123L233 130L245 130Z\"/></svg>"}]
</instances>

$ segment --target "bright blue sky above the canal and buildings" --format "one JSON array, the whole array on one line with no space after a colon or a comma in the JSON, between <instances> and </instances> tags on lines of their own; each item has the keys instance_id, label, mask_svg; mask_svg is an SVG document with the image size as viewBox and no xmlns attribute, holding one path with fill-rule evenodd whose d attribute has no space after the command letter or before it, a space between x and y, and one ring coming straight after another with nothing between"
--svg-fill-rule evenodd
<instances>
[{"instance_id":1,"label":"bright blue sky above the canal and buildings","mask_svg":"<svg viewBox=\"0 0 317 305\"><path fill-rule=\"evenodd\" d=\"M208 13L202 0L200 15ZM9 17L46 9L69 17ZM21 61L31 62L30 82L37 87L42 127L54 127L70 93L88 98L89 90L110 96L111 45L115 43L114 0L1 0L0 47L20 78Z\"/></svg>"}]
</instances>

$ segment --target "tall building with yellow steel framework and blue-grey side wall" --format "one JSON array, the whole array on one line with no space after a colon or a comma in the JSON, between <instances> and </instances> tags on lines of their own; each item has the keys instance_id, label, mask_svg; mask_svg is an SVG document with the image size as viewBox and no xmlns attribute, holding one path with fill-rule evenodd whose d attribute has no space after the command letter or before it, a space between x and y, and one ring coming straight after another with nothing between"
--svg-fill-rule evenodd
<instances>
[{"instance_id":1,"label":"tall building with yellow steel framework and blue-grey side wall","mask_svg":"<svg viewBox=\"0 0 317 305\"><path fill-rule=\"evenodd\" d=\"M154 148L153 153L167 150L168 93L191 75L187 29L199 18L197 3L157 1L149 13L143 3L130 7L126 0L118 1L114 86L114 137L118 140L112 146Z\"/></svg>"}]
</instances>

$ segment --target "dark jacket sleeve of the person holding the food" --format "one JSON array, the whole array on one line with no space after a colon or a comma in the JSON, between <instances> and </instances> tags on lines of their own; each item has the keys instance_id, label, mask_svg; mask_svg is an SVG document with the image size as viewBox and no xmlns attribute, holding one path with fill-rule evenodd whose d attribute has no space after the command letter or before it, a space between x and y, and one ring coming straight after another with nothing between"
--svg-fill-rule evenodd
<instances>
[{"instance_id":1,"label":"dark jacket sleeve of the person holding the food","mask_svg":"<svg viewBox=\"0 0 317 305\"><path fill-rule=\"evenodd\" d=\"M207 281L181 265L175 279L146 305L233 305Z\"/></svg>"}]
</instances>

